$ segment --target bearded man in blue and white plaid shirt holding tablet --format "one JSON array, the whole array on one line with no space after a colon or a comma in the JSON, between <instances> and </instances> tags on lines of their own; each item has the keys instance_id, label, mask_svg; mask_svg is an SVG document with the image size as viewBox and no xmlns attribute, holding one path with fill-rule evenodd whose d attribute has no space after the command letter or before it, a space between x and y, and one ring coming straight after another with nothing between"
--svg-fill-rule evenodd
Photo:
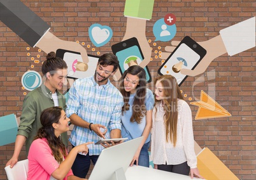
<instances>
[{"instance_id":1,"label":"bearded man in blue and white plaid shirt holding tablet","mask_svg":"<svg viewBox=\"0 0 256 180\"><path fill-rule=\"evenodd\" d=\"M95 74L75 80L69 89L66 109L67 117L74 124L69 141L73 146L89 141L96 143L101 138L120 138L120 114L124 100L109 77L117 71L117 56L106 53L97 63ZM88 145L87 155L76 156L72 170L75 176L85 178L90 168L90 160L96 164L104 149L101 145Z\"/></svg>"}]
</instances>

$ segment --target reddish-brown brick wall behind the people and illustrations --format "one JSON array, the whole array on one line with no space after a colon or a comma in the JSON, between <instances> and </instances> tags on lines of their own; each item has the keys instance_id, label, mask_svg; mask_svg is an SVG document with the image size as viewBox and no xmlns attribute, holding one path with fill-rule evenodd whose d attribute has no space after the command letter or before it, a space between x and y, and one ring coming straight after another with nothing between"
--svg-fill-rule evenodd
<instances>
[{"instance_id":1,"label":"reddish-brown brick wall behind the people and illustrations","mask_svg":"<svg viewBox=\"0 0 256 180\"><path fill-rule=\"evenodd\" d=\"M91 55L110 52L111 45L124 37L125 0L22 2L50 25L53 34L63 40L84 42L83 46ZM161 65L155 50L164 51L170 44L157 41L154 46L152 28L167 13L176 15L174 40L180 41L189 35L199 42L217 36L225 27L255 16L255 10L255 0L155 0L152 20L146 23L146 37L152 40L153 60L148 64L152 77L157 76ZM94 23L108 25L113 30L112 39L101 48L96 48L89 39L88 29ZM22 101L29 93L22 89L21 77L27 70L40 72L41 62L45 60L45 53L27 47L27 43L0 22L0 116L10 113L20 116ZM188 103L198 100L203 90L231 113L231 117L194 120L194 136L201 148L210 148L239 179L256 179L255 56L255 48L232 57L220 56L211 62L204 74L188 77L181 86ZM31 60L32 57L38 61ZM152 83L148 87L153 90ZM197 106L190 107L195 117ZM6 179L4 166L11 158L13 148L13 144L0 146L0 179ZM24 158L23 149L20 160Z\"/></svg>"}]
</instances>

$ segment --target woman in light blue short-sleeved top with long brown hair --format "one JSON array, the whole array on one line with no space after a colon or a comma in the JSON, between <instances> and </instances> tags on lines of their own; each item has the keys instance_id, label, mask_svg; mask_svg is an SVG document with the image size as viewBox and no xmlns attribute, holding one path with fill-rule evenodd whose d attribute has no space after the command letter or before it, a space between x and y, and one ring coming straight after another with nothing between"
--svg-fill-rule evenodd
<instances>
[{"instance_id":1,"label":"woman in light blue short-sleeved top with long brown hair","mask_svg":"<svg viewBox=\"0 0 256 180\"><path fill-rule=\"evenodd\" d=\"M150 146L150 130L152 127L153 93L146 88L146 72L138 65L125 70L122 75L120 92L124 97L122 107L122 138L131 140L143 136L131 165L149 167L148 148Z\"/></svg>"}]
</instances>

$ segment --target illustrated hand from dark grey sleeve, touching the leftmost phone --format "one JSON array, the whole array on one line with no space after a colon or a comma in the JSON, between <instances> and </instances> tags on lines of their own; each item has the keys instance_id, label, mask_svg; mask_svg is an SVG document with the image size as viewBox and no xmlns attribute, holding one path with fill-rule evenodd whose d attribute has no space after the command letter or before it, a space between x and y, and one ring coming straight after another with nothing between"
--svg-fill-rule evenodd
<instances>
[{"instance_id":1,"label":"illustrated hand from dark grey sleeve, touching the leftmost phone","mask_svg":"<svg viewBox=\"0 0 256 180\"><path fill-rule=\"evenodd\" d=\"M42 51L45 53L50 53L50 51L56 52L57 49L66 49L69 51L79 52L82 56L83 63L85 63L85 66L88 66L87 64L89 63L89 58L87 56L87 51L77 42L63 41L52 33L46 32L36 46L42 49Z\"/></svg>"}]
</instances>

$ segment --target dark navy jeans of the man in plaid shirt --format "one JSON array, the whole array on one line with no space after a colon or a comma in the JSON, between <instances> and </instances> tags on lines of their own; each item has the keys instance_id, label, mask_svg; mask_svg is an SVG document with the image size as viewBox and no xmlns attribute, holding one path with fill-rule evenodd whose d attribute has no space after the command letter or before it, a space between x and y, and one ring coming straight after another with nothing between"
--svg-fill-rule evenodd
<instances>
[{"instance_id":1,"label":"dark navy jeans of the man in plaid shirt","mask_svg":"<svg viewBox=\"0 0 256 180\"><path fill-rule=\"evenodd\" d=\"M73 171L73 174L75 176L85 178L87 175L89 169L90 169L90 160L92 160L92 164L96 164L97 159L99 158L99 155L89 155L89 151L87 155L76 155L75 162L73 163L71 169Z\"/></svg>"}]
</instances>

